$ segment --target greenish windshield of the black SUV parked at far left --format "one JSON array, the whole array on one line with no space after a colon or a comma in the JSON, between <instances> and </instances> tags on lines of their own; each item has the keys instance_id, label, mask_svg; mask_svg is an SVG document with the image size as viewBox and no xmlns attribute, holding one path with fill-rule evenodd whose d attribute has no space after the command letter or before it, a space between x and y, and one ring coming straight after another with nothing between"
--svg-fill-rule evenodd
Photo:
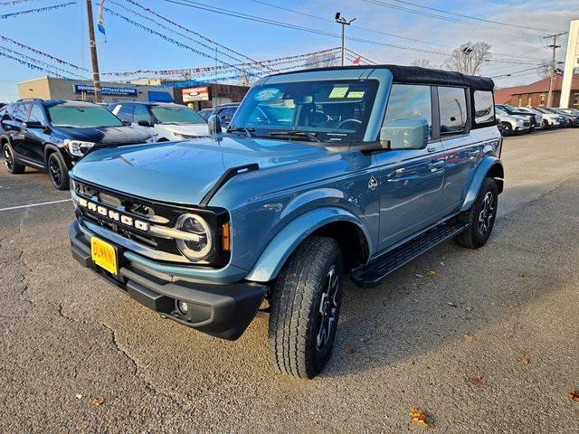
<instances>
[{"instance_id":1,"label":"greenish windshield of the black SUV parked at far left","mask_svg":"<svg viewBox=\"0 0 579 434\"><path fill-rule=\"evenodd\" d=\"M123 123L108 109L99 106L52 106L48 108L56 127L122 127Z\"/></svg>"}]
</instances>

